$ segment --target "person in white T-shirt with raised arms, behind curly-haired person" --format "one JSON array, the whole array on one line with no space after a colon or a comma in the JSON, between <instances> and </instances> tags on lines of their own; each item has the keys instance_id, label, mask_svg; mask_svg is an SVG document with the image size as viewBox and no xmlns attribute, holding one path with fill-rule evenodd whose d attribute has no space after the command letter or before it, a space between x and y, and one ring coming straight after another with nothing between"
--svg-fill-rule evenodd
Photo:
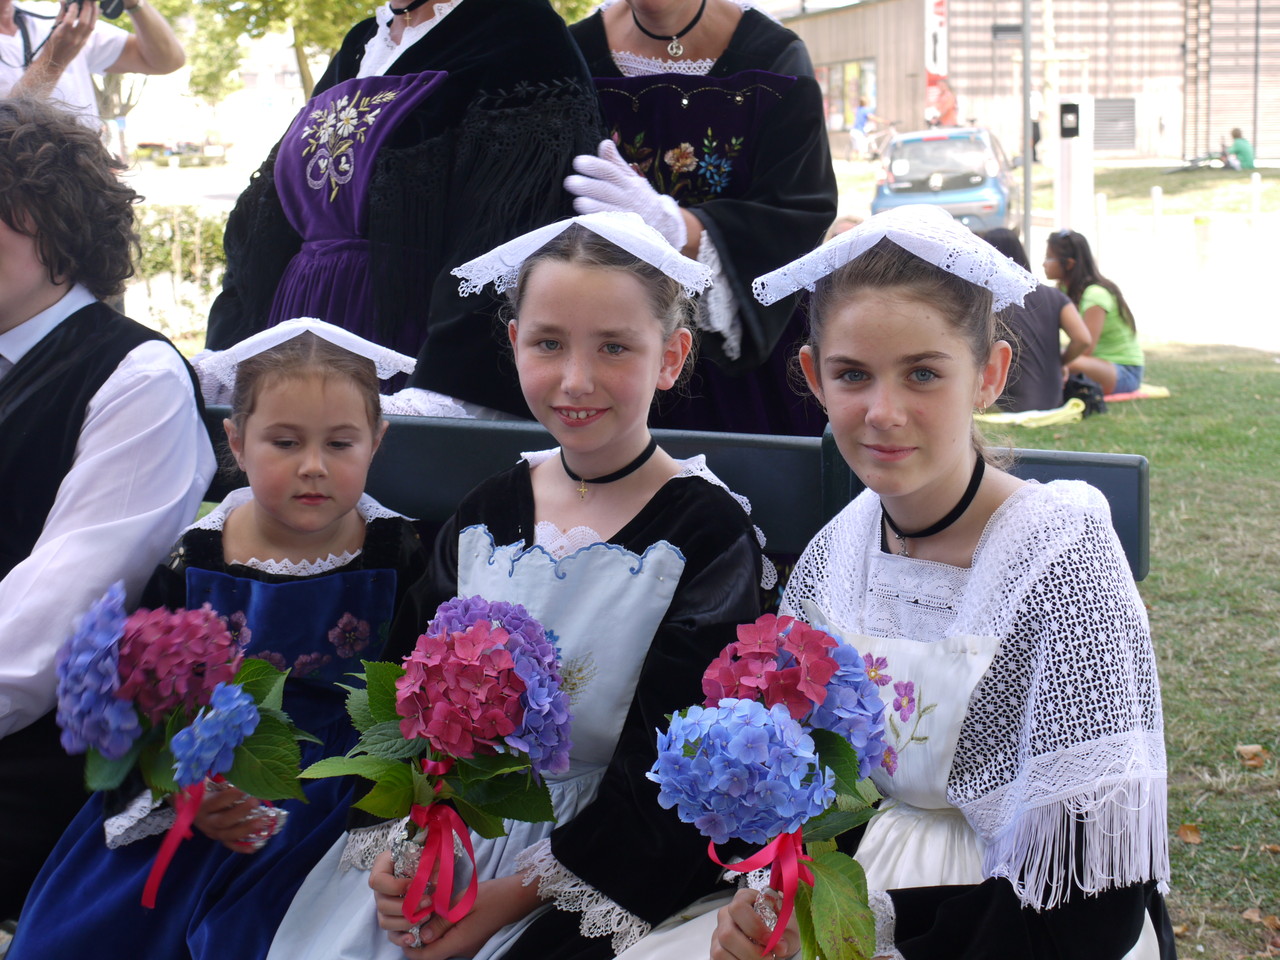
<instances>
[{"instance_id":1,"label":"person in white T-shirt with raised arms, behind curly-haired person","mask_svg":"<svg viewBox=\"0 0 1280 960\"><path fill-rule=\"evenodd\" d=\"M100 9L101 4L101 9ZM0 96L51 97L97 129L95 73L173 73L186 54L147 0L124 0L133 33L101 19L120 0L0 0Z\"/></svg>"}]
</instances>

